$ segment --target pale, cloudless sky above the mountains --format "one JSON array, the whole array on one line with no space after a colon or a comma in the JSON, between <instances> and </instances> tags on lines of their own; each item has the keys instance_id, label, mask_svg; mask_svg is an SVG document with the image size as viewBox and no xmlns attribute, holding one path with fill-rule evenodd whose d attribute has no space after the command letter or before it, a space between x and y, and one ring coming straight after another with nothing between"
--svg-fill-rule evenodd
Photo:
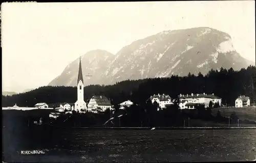
<instances>
[{"instance_id":1,"label":"pale, cloudless sky above the mountains","mask_svg":"<svg viewBox=\"0 0 256 163\"><path fill-rule=\"evenodd\" d=\"M254 1L2 3L2 91L48 85L94 49L117 53L166 30L199 26L231 36L255 61Z\"/></svg>"}]
</instances>

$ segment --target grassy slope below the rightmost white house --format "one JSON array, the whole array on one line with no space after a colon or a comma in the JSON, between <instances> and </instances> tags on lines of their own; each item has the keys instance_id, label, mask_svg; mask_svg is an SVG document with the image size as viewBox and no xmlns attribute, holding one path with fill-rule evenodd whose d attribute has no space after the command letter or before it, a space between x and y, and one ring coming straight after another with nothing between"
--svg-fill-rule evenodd
<instances>
[{"instance_id":1,"label":"grassy slope below the rightmost white house","mask_svg":"<svg viewBox=\"0 0 256 163\"><path fill-rule=\"evenodd\" d=\"M217 112L220 111L223 117L230 116L233 112L236 112L236 115L241 120L249 120L256 122L256 107L220 107L212 108L212 115L216 116Z\"/></svg>"}]
</instances>

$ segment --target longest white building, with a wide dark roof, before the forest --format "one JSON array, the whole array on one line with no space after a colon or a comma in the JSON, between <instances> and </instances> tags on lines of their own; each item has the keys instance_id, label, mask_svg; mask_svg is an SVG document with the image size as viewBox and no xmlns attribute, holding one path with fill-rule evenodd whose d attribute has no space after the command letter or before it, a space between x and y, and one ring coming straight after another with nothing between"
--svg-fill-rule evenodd
<instances>
[{"instance_id":1,"label":"longest white building, with a wide dark roof, before the forest","mask_svg":"<svg viewBox=\"0 0 256 163\"><path fill-rule=\"evenodd\" d=\"M181 109L184 108L195 108L199 103L204 104L205 107L209 106L210 101L212 101L213 104L219 103L221 106L221 98L214 95L214 94L194 94L191 93L191 95L179 95L179 107Z\"/></svg>"}]
</instances>

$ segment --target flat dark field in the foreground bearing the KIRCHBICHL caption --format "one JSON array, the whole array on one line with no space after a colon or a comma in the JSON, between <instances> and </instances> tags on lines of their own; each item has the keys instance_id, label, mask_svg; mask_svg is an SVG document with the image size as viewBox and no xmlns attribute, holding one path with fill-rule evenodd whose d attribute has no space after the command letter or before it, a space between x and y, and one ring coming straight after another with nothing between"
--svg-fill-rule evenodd
<instances>
[{"instance_id":1,"label":"flat dark field in the foreground bearing the KIRCHBICHL caption","mask_svg":"<svg viewBox=\"0 0 256 163\"><path fill-rule=\"evenodd\" d=\"M7 134L14 131L4 128L3 132L7 162L241 161L256 156L255 129L44 129L18 135ZM45 149L46 154L20 154L35 149Z\"/></svg>"}]
</instances>

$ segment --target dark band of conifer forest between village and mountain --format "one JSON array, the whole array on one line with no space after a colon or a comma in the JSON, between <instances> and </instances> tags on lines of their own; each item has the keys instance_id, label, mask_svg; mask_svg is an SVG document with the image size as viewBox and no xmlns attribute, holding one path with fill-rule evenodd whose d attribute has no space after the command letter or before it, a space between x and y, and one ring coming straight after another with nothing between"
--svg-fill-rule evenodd
<instances>
[{"instance_id":1,"label":"dark band of conifer forest between village and mountain","mask_svg":"<svg viewBox=\"0 0 256 163\"><path fill-rule=\"evenodd\" d=\"M91 85L84 87L84 99L93 95L105 95L112 104L124 100L132 100L137 104L145 103L153 94L168 94L176 98L179 94L206 93L222 98L222 103L234 105L234 100L240 95L253 99L253 80L255 66L234 71L221 68L220 71L210 70L207 75L188 74L185 77L170 76L166 78L147 78L141 80L125 80L110 86ZM37 102L75 102L77 99L76 87L40 87L30 92L12 96L2 95L2 106L33 106Z\"/></svg>"}]
</instances>

